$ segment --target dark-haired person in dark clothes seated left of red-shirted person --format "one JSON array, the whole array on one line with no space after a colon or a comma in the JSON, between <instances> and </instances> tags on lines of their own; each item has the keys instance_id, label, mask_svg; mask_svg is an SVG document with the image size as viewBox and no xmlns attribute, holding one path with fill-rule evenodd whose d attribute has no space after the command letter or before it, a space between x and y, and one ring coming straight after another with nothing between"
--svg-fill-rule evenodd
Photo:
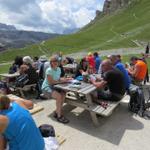
<instances>
[{"instance_id":1,"label":"dark-haired person in dark clothes seated left of red-shirted person","mask_svg":"<svg viewBox=\"0 0 150 150\"><path fill-rule=\"evenodd\" d=\"M88 62L86 58L82 58L79 65L77 66L75 78L78 78L79 76L82 76L85 72L88 70Z\"/></svg>"}]
</instances>

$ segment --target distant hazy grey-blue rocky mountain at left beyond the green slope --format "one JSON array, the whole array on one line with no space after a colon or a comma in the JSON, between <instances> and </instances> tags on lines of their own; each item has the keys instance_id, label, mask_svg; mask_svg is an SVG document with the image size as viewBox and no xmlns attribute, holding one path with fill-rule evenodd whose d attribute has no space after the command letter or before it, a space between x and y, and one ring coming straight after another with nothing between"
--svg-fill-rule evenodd
<instances>
[{"instance_id":1,"label":"distant hazy grey-blue rocky mountain at left beyond the green slope","mask_svg":"<svg viewBox=\"0 0 150 150\"><path fill-rule=\"evenodd\" d=\"M59 34L19 31L12 25L0 23L0 51L8 48L21 48L56 36Z\"/></svg>"}]
</instances>

